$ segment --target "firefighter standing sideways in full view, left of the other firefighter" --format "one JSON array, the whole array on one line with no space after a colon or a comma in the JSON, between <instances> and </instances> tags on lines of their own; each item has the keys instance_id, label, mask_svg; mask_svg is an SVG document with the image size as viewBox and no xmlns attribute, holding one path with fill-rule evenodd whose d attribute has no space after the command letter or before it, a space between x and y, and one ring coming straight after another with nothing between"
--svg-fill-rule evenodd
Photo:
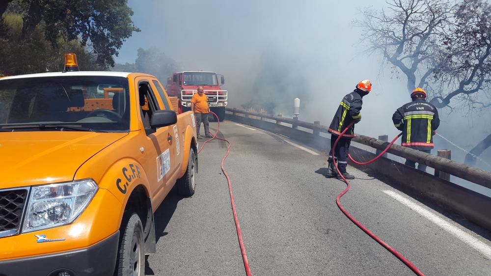
<instances>
[{"instance_id":1,"label":"firefighter standing sideways in full view, left of the other firefighter","mask_svg":"<svg viewBox=\"0 0 491 276\"><path fill-rule=\"evenodd\" d=\"M355 137L355 125L351 126L341 139L339 139L334 150L332 147L334 146L336 139L351 122L354 121L356 124L361 120L360 110L361 105L363 104L362 98L363 96L368 95L370 90L372 90L372 83L370 80L363 80L356 84L353 92L344 96L341 100L328 130L331 134L331 150L329 151L329 158L327 159L329 169L326 177L340 177L337 175L336 169L334 168L333 158L335 158L339 171L343 176L346 179L355 179L355 176L346 171L351 139Z\"/></svg>"}]
</instances>

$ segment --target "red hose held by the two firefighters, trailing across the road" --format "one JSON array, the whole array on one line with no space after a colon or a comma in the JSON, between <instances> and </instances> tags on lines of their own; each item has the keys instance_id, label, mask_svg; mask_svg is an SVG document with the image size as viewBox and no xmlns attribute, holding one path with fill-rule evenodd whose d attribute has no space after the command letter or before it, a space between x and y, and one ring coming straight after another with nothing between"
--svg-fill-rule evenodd
<instances>
[{"instance_id":1,"label":"red hose held by the two firefighters, trailing across the road","mask_svg":"<svg viewBox=\"0 0 491 276\"><path fill-rule=\"evenodd\" d=\"M338 136L338 138L334 142L334 145L332 146L332 149L333 149L332 155L333 156L336 155L335 149L336 149L337 143L339 142L339 139L341 139L341 137L346 133L347 130L349 130L351 128L352 125L353 125L353 122L346 127L346 129L341 133L340 136ZM375 157L374 159L372 159L368 162L356 162L351 156L349 156L349 157L350 157L351 161L355 162L356 164L359 164L359 165L370 164L370 163L374 162L375 160L379 159L389 149L389 147L397 140L397 138L399 138L399 136L401 136L401 134L399 134L396 138L394 138L390 142L390 144L387 146L387 148L384 151L382 151L381 154L379 154L377 157ZM416 275L424 276L424 274L421 271L419 271L419 269L415 265L413 265L408 259L406 259L401 253L397 252L396 249L391 248L388 244L386 244L384 241L382 241L381 238L377 237L374 233L372 233L370 230L368 230L368 228L366 228L363 224L361 224L359 221L357 221L350 213L348 213L348 211L346 211L346 209L344 209L343 205L341 205L341 197L350 190L351 185L350 185L350 182L339 171L338 166L337 166L337 162L335 161L335 158L333 159L333 162L334 162L334 166L336 167L336 171L337 171L338 175L340 175L341 178L344 180L344 182L346 182L346 189L344 189L344 191L341 192L336 198L336 204L338 205L341 212L343 212L343 214L345 214L346 217L348 217L348 219L353 221L353 223L355 223L356 226L358 226L361 230L363 230L365 233L367 233L372 239L374 239L380 245L382 245L382 247L389 250L389 252L391 252L392 254L394 254L394 256L399 258L399 260L401 260L405 265L407 265L409 267L409 269L411 269Z\"/></svg>"}]
</instances>

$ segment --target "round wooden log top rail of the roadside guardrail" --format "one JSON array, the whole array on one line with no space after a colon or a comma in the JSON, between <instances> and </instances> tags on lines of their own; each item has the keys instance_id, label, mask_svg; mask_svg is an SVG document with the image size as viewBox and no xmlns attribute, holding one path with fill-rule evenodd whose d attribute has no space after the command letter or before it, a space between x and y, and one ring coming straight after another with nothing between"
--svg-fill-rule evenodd
<instances>
[{"instance_id":1,"label":"round wooden log top rail of the roadside guardrail","mask_svg":"<svg viewBox=\"0 0 491 276\"><path fill-rule=\"evenodd\" d=\"M259 119L261 120L263 118L266 118L270 120L275 120L276 123L284 122L287 124L291 124L292 128L294 129L297 129L297 127L311 129L313 131L314 136L319 136L321 132L327 133L328 127L321 125L320 122L318 121L316 121L315 123L308 123L292 118L274 116L264 113L250 112L250 111L239 110L235 108L234 109L227 108L226 110L232 112L232 114L234 115L244 114L246 117L255 116L255 117L259 117ZM385 147L387 147L387 145L389 144L388 142L379 140L377 138L364 136L364 135L357 135L353 139L353 141L357 143L365 144L367 146L370 146L378 150L385 149ZM472 166L467 166L453 160L441 158L432 154L424 153L418 150L414 150L396 144L393 144L387 152L402 158L409 159L414 162L425 164L426 166L435 168L439 171L446 172L448 174L454 175L456 177L462 178L464 180L491 189L490 171L486 171Z\"/></svg>"}]
</instances>

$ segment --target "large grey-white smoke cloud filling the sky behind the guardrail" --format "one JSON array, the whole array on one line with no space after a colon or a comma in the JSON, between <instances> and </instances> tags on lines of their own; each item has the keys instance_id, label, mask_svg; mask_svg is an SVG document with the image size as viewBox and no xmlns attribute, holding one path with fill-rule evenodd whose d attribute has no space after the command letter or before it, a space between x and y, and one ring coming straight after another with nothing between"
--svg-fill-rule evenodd
<instances>
[{"instance_id":1,"label":"large grey-white smoke cloud filling the sky behind the guardrail","mask_svg":"<svg viewBox=\"0 0 491 276\"><path fill-rule=\"evenodd\" d=\"M381 56L363 52L364 34L351 23L361 16L358 10L366 1L130 0L129 5L141 32L124 44L118 63L133 63L138 48L154 47L181 70L223 74L230 107L253 105L291 116L293 99L298 97L299 119L324 125L330 123L341 98L360 80L370 79L373 90L363 99L363 119L356 132L373 137L398 133L391 117L410 101L406 80L391 73ZM375 0L370 5L380 10L386 3ZM438 132L464 149L470 150L491 132L490 123L483 125L479 117L440 113ZM454 160L464 161L464 152L435 140L437 148L448 147ZM491 149L481 157L491 162Z\"/></svg>"}]
</instances>

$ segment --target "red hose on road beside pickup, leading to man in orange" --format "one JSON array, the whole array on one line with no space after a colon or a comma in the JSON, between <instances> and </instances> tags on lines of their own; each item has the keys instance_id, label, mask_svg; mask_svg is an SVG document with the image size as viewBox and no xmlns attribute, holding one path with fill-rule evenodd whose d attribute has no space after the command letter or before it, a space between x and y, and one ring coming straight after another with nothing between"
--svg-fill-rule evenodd
<instances>
[{"instance_id":1,"label":"red hose on road beside pickup, leading to man in orange","mask_svg":"<svg viewBox=\"0 0 491 276\"><path fill-rule=\"evenodd\" d=\"M213 115L215 115L215 117L217 118L217 122L218 122L217 132L213 135L212 138L203 142L203 145L201 145L201 147L198 150L198 154L201 152L201 150L203 149L203 147L205 146L206 143L208 143L209 141L211 141L215 138L228 143L227 153L223 156L223 158L221 160L221 171L223 172L223 175L225 175L225 178L227 178L227 182L228 182L228 191L230 192L230 202L232 204L232 212L234 214L235 227L237 228L237 237L239 239L239 246L241 248L242 259L244 260L244 268L246 269L246 275L251 276L252 274L250 273L249 261L247 260L246 247L244 246L244 241L242 240L241 226L239 225L239 218L237 217L237 212L235 209L235 200L234 200L234 193L232 192L232 183L231 183L230 177L228 176L227 172L225 171L225 167L224 167L225 159L227 159L227 156L230 153L230 147L232 146L232 144L230 143L230 141L228 141L225 138L217 137L218 131L220 130L220 120L218 119L217 114L215 114L214 112L211 112L211 113L213 113ZM210 134L212 134L212 133L210 133Z\"/></svg>"}]
</instances>

